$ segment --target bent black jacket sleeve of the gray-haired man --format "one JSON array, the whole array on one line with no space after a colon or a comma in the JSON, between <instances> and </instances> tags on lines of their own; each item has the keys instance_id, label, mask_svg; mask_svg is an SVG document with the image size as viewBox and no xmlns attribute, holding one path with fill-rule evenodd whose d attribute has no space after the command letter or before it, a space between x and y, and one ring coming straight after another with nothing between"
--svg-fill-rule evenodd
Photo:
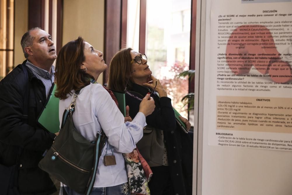
<instances>
[{"instance_id":1,"label":"bent black jacket sleeve of the gray-haired man","mask_svg":"<svg viewBox=\"0 0 292 195\"><path fill-rule=\"evenodd\" d=\"M0 141L34 151L50 148L55 134L27 125L22 117L23 97L20 87L13 82L1 82Z\"/></svg>"}]
</instances>

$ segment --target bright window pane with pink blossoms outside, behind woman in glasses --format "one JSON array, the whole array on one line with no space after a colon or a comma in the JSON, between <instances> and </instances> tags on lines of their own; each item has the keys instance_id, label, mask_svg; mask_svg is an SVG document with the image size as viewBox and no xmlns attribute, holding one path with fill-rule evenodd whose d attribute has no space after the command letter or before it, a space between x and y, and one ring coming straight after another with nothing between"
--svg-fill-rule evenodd
<instances>
[{"instance_id":1,"label":"bright window pane with pink blossoms outside, behind woman in glasses","mask_svg":"<svg viewBox=\"0 0 292 195\"><path fill-rule=\"evenodd\" d=\"M147 0L146 55L152 74L172 99L173 107L187 118L188 79L175 76L189 69L191 0Z\"/></svg>"}]
</instances>

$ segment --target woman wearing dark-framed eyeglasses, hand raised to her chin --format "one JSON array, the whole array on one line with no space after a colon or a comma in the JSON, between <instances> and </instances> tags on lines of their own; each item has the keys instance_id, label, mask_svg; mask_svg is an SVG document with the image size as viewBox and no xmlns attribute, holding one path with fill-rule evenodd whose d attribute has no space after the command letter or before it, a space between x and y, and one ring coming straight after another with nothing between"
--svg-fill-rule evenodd
<instances>
[{"instance_id":1,"label":"woman wearing dark-framed eyeglasses, hand raised to her chin","mask_svg":"<svg viewBox=\"0 0 292 195\"><path fill-rule=\"evenodd\" d=\"M109 66L107 87L125 92L132 118L143 96L150 93L154 99L154 112L146 117L143 138L136 145L153 172L150 193L192 194L192 140L177 126L171 99L152 76L146 55L131 48L118 51ZM190 122L181 120L190 130Z\"/></svg>"}]
</instances>

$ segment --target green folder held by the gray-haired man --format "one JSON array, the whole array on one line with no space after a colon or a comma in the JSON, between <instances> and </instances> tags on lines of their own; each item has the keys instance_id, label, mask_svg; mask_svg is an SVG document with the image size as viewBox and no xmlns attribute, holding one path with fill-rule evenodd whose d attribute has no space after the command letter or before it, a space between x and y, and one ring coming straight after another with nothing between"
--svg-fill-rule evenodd
<instances>
[{"instance_id":1,"label":"green folder held by the gray-haired man","mask_svg":"<svg viewBox=\"0 0 292 195\"><path fill-rule=\"evenodd\" d=\"M39 124L52 133L60 130L59 98L55 97L55 89L56 85L54 84L52 94L48 97L47 104L38 119Z\"/></svg>"}]
</instances>

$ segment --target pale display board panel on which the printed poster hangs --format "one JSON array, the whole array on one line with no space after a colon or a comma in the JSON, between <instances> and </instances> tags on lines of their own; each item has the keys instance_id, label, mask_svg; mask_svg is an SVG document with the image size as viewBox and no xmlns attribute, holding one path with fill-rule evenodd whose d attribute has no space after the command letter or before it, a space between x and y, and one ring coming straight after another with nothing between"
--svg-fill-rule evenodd
<instances>
[{"instance_id":1,"label":"pale display board panel on which the printed poster hangs","mask_svg":"<svg viewBox=\"0 0 292 195\"><path fill-rule=\"evenodd\" d=\"M289 37L280 37L280 32L287 32L282 34L282 36L290 36L291 32L290 25L291 19L291 1L211 1L207 0L204 6L204 3L199 2L198 7L201 7L201 13L198 17L200 19L200 34L197 37L205 36L204 40L200 40L199 49L200 52L197 53L196 59L199 59L199 65L196 65L196 72L199 71L200 78L197 78L196 82L199 83L196 85L195 92L199 92L195 96L195 101L199 102L199 105L195 107L195 110L198 112L195 115L195 118L198 117L198 120L195 122L195 126L198 130L198 169L197 169L197 194L292 194L292 187L289 185L289 182L292 179L292 169L290 164L292 161L292 153L289 152L291 146L288 145L288 141L291 141L291 132L289 127L284 125L289 125L290 119L289 114L291 113L288 109L288 106L291 105L292 90L289 90L291 84L291 58ZM200 4L200 6L199 6ZM275 12L277 11L277 13ZM204 12L206 14L204 14ZM274 14L274 15L273 15ZM278 14L277 16L275 14ZM286 15L285 15L286 14ZM288 16L290 14L290 17ZM220 15L222 17L220 17ZM236 16L238 15L238 16ZM239 15L242 15L239 18ZM244 16L246 15L246 16ZM250 16L248 16L250 15ZM244 17L243 17L244 16ZM225 19L225 20L219 20ZM279 22L276 23L276 22ZM283 21L283 23L281 23ZM285 21L288 21L285 22ZM227 24L231 23L233 24ZM249 23L249 24L244 24ZM273 23L271 23L273 22ZM225 23L225 24L223 24ZM237 24L235 24L237 23ZM260 24L261 23L261 24ZM291 22L292 23L292 22ZM228 27L227 27L228 25ZM232 25L234 25L232 27ZM236 25L236 27L235 27ZM234 52L233 49L227 49L227 43L230 39L232 32L239 27L238 31L244 32L240 29L242 25L249 25L249 30L247 32L264 32L265 35L271 35L273 41L267 40L264 37L255 37L256 34L253 34L253 38L244 38L240 37L240 44L246 43L249 45L255 43L262 43L261 49L257 46L256 49L252 47L246 48L235 48L237 52ZM252 30L256 29L255 26L251 25L260 25L261 30ZM272 25L272 26L269 26ZM275 26L274 26L275 25ZM280 25L280 26L279 26ZM267 31L270 31L270 33ZM220 30L220 31L219 31ZM222 32L229 32L227 34L218 34ZM278 32L278 35L277 33ZM246 31L245 31L246 33ZM234 34L233 34L234 35ZM250 36L251 33L249 34ZM264 36L265 36L264 35ZM222 37L221 37L222 36ZM237 35L238 36L238 35ZM244 35L241 35L244 36ZM260 33L257 34L260 36ZM262 35L261 35L262 36ZM277 37L279 36L279 37ZM233 37L235 40L238 37ZM267 37L266 37L267 38ZM236 42L232 41L230 42ZM249 39L260 39L260 41L249 41ZM284 40L283 40L284 39ZM273 43L274 42L274 43ZM203 43L203 44L202 44ZM264 44L263 44L264 43ZM267 45L266 45L267 43ZM285 44L286 43L286 44ZM290 43L290 44L289 44ZM240 47L242 45L238 44ZM231 45L231 44L230 44ZM265 48L265 47L266 48ZM271 47L271 48L267 48ZM244 49L248 51L244 51ZM263 50L264 49L264 50ZM272 51L273 50L273 51ZM233 53L232 53L233 51ZM291 50L292 51L292 50ZM206 54L206 55L205 55ZM234 54L234 55L229 55ZM249 72L240 72L240 62L238 59L239 54L246 54L249 57L267 57L267 59L244 59L244 63L241 65L246 65L250 67ZM248 55L253 54L253 55ZM256 54L256 55L254 55ZM276 54L276 55L258 55L258 54ZM281 55L279 55L281 54ZM286 55L284 55L286 54ZM220 59L218 59L218 57ZM227 58L230 57L230 58ZM270 58L269 57L273 57ZM227 58L227 59L226 59ZM223 60L223 62L218 62ZM246 62L246 60L251 60L251 62ZM254 60L261 60L263 62L253 62ZM235 61L235 62L230 62ZM232 65L232 63L234 65ZM223 64L223 65L219 65ZM218 69L218 67L224 67L225 69ZM280 68L285 68L285 71L281 71ZM199 69L197 69L199 68ZM234 68L234 69L232 69ZM237 68L237 69L236 69ZM273 68L273 69L272 69ZM277 69L277 70L276 70ZM234 71L232 71L234 70ZM244 69L243 69L244 70ZM223 72L218 72L223 71ZM226 73L224 72L226 71ZM236 71L238 71L236 73ZM248 76L249 75L249 76ZM262 75L262 76L260 76ZM270 76L264 76L270 75ZM273 76L274 75L274 76ZM275 76L276 75L276 76ZM278 75L278 77L277 77ZM198 75L196 75L198 76ZM232 79L236 78L236 79ZM281 78L281 79L279 79ZM237 81L243 83L223 83L221 81ZM218 83L219 82L219 83ZM246 83L244 83L246 82ZM250 83L248 83L250 82ZM252 83L254 82L254 83ZM258 83L257 83L258 82ZM230 84L230 86L227 86ZM232 86L232 85L241 85ZM217 86L219 85L219 86ZM223 86L225 85L225 86ZM244 86L245 85L245 86ZM256 87L256 85L258 87ZM280 87L281 86L281 87ZM285 87L284 87L285 86ZM224 89L220 89L224 88ZM244 90L235 90L235 88L242 88ZM260 91L254 89L261 89ZM270 89L270 90L267 90ZM234 92L237 91L237 92ZM219 104L226 105L226 108L233 108L228 106L229 101L230 106L236 106L235 102L248 102L251 103L251 107L248 107L248 104L245 104L246 107L242 110L247 115L252 116L253 112L257 111L258 113L270 113L271 122L258 121L258 127L254 128L254 125L247 124L248 122L253 123L252 121L247 121L246 124L236 124L239 126L234 126L234 122L229 121L232 124L218 124L218 118L228 118L218 116L229 115L229 112L218 113ZM203 101L204 100L204 101ZM265 101L267 100L267 101ZM219 102L221 101L221 102ZM225 102L224 102L225 101ZM223 102L223 103L222 103ZM243 103L244 104L244 103ZM238 106L238 105L237 105ZM254 108L256 106L256 109ZM260 108L258 108L260 106ZM263 108L261 108L263 106ZM272 107L272 108L265 108ZM220 106L225 108L225 106ZM277 107L277 109L276 109ZM286 108L285 108L286 107ZM235 108L236 109L236 108ZM251 110L255 109L255 111ZM263 110L261 110L263 109ZM225 109L223 110L224 112ZM223 112L222 111L222 112ZM231 112L240 112L231 111ZM251 115L249 114L251 113ZM277 115L278 114L278 115ZM279 119L285 114L286 119ZM231 115L235 115L232 114ZM244 114L239 114L244 115ZM262 115L256 115L257 117L262 117ZM266 117L266 115L264 116ZM263 117L263 120L265 120ZM273 118L275 117L275 118ZM230 117L231 120L232 117ZM284 118L284 117L283 117ZM254 118L256 119L256 118ZM254 120L249 118L248 120ZM242 120L242 119L241 119ZM247 120L247 119L246 119ZM256 120L260 120L257 118ZM203 123L201 123L203 121ZM221 120L224 121L224 120ZM274 122L272 122L274 121ZM277 122L278 121L278 122ZM281 123L285 121L285 123ZM243 123L243 121L236 121L238 123ZM262 128L260 124L273 124L274 128L271 126L266 126L267 128ZM281 125L282 126L278 126ZM284 124L284 125L283 125ZM219 127L218 127L219 125ZM222 126L220 126L222 125ZM223 126L234 126L234 127L223 127ZM277 126L276 126L277 125ZM228 129L229 128L229 129ZM233 128L233 129L230 129ZM292 129L291 129L292 130ZM216 134L223 133L223 134ZM228 135L233 134L233 135ZM260 148L260 147L247 147L247 144L242 143L228 143L225 140L230 140L229 138L219 138L219 137L231 137L231 140L235 137L243 137L252 140L251 142L256 142L255 144L251 143L252 146L269 146L271 148ZM256 140L253 140L256 139ZM264 139L264 141L258 141ZM219 145L223 140L223 143L233 144L228 146ZM240 139L238 139L240 140ZM242 139L243 140L243 139ZM242 141L241 140L241 141ZM282 140L282 142L271 141L271 140ZM247 141L247 140L244 140ZM286 143L284 143L286 141ZM221 142L222 143L222 142ZM278 145L278 149L274 145L272 149L272 143L286 144ZM240 144L240 146L237 146ZM281 149L280 147L281 146ZM200 170L201 168L201 170Z\"/></svg>"}]
</instances>

